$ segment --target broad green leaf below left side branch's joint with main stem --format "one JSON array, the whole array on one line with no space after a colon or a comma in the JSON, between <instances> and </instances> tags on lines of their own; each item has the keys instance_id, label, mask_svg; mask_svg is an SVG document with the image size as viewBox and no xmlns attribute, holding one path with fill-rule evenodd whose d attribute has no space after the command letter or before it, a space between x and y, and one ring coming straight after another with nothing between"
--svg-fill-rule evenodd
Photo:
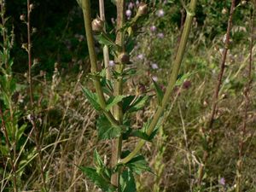
<instances>
[{"instance_id":1,"label":"broad green leaf below left side branch's joint with main stem","mask_svg":"<svg viewBox=\"0 0 256 192\"><path fill-rule=\"evenodd\" d=\"M98 131L98 137L101 140L119 137L122 132L121 127L113 126L104 115L97 119L96 128Z\"/></svg>"}]
</instances>

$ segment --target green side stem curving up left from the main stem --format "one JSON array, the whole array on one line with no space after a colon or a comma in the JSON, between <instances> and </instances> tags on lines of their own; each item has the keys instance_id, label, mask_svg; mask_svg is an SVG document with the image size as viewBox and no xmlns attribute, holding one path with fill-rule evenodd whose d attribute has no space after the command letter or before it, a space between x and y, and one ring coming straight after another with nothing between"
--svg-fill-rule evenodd
<instances>
[{"instance_id":1,"label":"green side stem curving up left from the main stem","mask_svg":"<svg viewBox=\"0 0 256 192\"><path fill-rule=\"evenodd\" d=\"M96 51L95 51L94 39L93 39L93 34L91 29L90 0L82 1L82 9L83 9L83 15L84 15L84 27L85 27L85 33L86 33L86 39L87 39L87 46L88 46L89 55L90 55L90 71L91 73L96 73L99 70L97 67ZM104 110L106 108L106 100L103 94L100 78L95 77L93 82L96 88L96 94L97 96L99 96L99 102L103 109L103 113L106 115L108 120L113 125L119 125L119 122L113 118L112 113Z\"/></svg>"}]
</instances>

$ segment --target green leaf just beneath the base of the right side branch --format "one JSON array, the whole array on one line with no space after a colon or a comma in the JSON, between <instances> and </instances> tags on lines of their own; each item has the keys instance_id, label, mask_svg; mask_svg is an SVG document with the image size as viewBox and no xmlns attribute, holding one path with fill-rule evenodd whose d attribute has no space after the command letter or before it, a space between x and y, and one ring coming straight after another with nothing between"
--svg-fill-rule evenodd
<instances>
[{"instance_id":1,"label":"green leaf just beneath the base of the right side branch","mask_svg":"<svg viewBox=\"0 0 256 192\"><path fill-rule=\"evenodd\" d=\"M136 172L137 174L141 174L142 172L152 172L143 155L137 155L125 164L125 166L129 167L132 172Z\"/></svg>"}]
</instances>

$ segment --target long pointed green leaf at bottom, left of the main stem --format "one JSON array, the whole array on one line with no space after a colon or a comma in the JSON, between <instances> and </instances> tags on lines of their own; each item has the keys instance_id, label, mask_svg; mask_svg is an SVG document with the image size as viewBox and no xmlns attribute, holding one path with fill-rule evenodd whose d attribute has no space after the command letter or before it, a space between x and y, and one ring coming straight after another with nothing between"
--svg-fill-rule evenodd
<instances>
[{"instance_id":1,"label":"long pointed green leaf at bottom, left of the main stem","mask_svg":"<svg viewBox=\"0 0 256 192\"><path fill-rule=\"evenodd\" d=\"M116 188L110 183L109 180L100 176L95 168L79 166L79 169L84 172L85 176L88 177L97 187L106 192L114 192Z\"/></svg>"}]
</instances>

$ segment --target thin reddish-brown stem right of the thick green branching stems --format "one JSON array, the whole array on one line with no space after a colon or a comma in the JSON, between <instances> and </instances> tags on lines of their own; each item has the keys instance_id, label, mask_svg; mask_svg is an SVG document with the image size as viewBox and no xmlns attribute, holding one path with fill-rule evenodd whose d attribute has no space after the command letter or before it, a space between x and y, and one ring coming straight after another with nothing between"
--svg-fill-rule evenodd
<instances>
[{"instance_id":1,"label":"thin reddish-brown stem right of the thick green branching stems","mask_svg":"<svg viewBox=\"0 0 256 192\"><path fill-rule=\"evenodd\" d=\"M231 28L232 28L233 13L235 11L235 6L236 6L235 3L236 3L236 0L232 0L232 4L231 4L231 8L230 8L230 17L229 17L229 20L228 20L227 32L225 34L226 39L224 41L224 52L223 52L222 59L221 59L221 62L220 62L220 71L218 73L218 82L216 84L214 94L212 96L212 111L211 111L210 119L207 122L208 123L207 131L212 130L212 125L213 125L214 118L215 118L215 113L216 113L216 108L217 108L217 103L218 103L218 93L219 93L219 90L220 90L220 86L222 84L226 57L227 57L227 53L228 53L229 45L230 45L230 31L231 31ZM202 164L199 168L199 177L198 177L198 185L199 186L201 186L202 177L204 175L204 166L207 162L207 158L208 158L208 151L205 150L204 154L203 154Z\"/></svg>"}]
</instances>

